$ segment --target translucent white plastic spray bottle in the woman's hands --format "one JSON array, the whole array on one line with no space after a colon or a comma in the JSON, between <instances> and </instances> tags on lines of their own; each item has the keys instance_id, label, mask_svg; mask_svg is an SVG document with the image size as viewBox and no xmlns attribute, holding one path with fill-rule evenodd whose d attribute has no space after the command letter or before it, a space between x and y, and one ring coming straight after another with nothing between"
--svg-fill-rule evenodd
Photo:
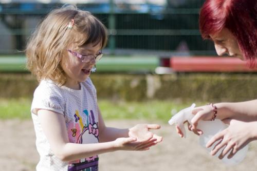
<instances>
[{"instance_id":1,"label":"translucent white plastic spray bottle in the woman's hands","mask_svg":"<svg viewBox=\"0 0 257 171\"><path fill-rule=\"evenodd\" d=\"M184 137L186 138L186 130L184 127L184 122L188 121L191 124L191 120L194 117L194 115L192 115L192 110L194 109L195 104L193 103L190 107L182 109L181 111L179 111L176 115L174 115L170 120L169 120L169 124L173 125L176 124L180 130L182 131ZM206 144L207 142L218 132L226 129L228 127L228 125L226 125L225 123L223 123L221 120L216 119L214 121L203 121L200 120L198 122L197 128L203 131L203 134L199 136L199 144L201 146L203 146L204 148L206 148ZM216 145L216 143L218 143L218 141L216 141L211 147L206 148L209 152L211 151L211 149L214 148L214 146ZM224 147L225 148L225 147ZM221 154L221 151L224 149L220 149L217 153L216 153L216 157L218 157L219 154ZM228 159L227 156L230 153L230 151L227 153L227 155L222 159L222 161L225 164L228 165L235 165L240 163L246 156L246 153L248 151L248 145L246 145L244 148L242 148L241 150L237 151L237 153L231 158Z\"/></svg>"}]
</instances>

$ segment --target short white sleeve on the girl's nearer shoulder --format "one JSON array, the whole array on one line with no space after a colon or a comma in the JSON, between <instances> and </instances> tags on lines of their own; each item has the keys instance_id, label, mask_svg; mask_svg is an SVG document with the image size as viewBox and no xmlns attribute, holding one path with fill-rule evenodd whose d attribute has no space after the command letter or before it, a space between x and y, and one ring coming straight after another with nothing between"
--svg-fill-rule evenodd
<instances>
[{"instance_id":1,"label":"short white sleeve on the girl's nearer shoulder","mask_svg":"<svg viewBox=\"0 0 257 171\"><path fill-rule=\"evenodd\" d=\"M63 115L64 105L64 99L57 88L40 85L34 91L31 112L37 115L39 109L46 109Z\"/></svg>"}]
</instances>

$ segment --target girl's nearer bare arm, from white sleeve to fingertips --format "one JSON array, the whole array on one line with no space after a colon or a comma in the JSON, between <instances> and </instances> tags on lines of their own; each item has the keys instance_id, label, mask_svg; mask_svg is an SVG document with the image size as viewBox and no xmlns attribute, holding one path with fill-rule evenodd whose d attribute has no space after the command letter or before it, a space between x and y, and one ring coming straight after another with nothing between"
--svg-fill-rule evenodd
<instances>
[{"instance_id":1,"label":"girl's nearer bare arm, from white sleeve to fingertips","mask_svg":"<svg viewBox=\"0 0 257 171\"><path fill-rule=\"evenodd\" d=\"M153 143L138 142L131 137L95 144L70 143L63 115L39 109L38 117L54 155L62 161L74 161L115 150L146 150Z\"/></svg>"}]
</instances>

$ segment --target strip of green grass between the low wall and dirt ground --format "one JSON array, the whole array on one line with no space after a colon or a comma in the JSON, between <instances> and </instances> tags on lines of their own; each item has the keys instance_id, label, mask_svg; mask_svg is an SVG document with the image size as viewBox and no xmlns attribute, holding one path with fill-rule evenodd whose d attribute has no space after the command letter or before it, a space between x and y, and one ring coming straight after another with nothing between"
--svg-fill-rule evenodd
<instances>
[{"instance_id":1,"label":"strip of green grass between the low wall and dirt ground","mask_svg":"<svg viewBox=\"0 0 257 171\"><path fill-rule=\"evenodd\" d=\"M0 119L30 119L31 99L0 99ZM113 102L99 100L104 119L149 119L167 122L189 103L173 101ZM198 103L200 105L200 103Z\"/></svg>"}]
</instances>

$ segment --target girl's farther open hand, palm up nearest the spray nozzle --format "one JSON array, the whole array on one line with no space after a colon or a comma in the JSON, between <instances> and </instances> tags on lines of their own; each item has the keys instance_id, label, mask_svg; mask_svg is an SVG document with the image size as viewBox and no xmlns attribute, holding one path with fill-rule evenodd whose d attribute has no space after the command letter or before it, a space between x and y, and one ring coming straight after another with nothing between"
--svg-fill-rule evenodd
<instances>
[{"instance_id":1,"label":"girl's farther open hand, palm up nearest the spray nozzle","mask_svg":"<svg viewBox=\"0 0 257 171\"><path fill-rule=\"evenodd\" d=\"M128 131L129 137L134 137L139 142L146 142L152 139L156 139L156 143L162 141L162 137L153 134L150 129L160 129L160 125L157 124L137 124Z\"/></svg>"}]
</instances>

